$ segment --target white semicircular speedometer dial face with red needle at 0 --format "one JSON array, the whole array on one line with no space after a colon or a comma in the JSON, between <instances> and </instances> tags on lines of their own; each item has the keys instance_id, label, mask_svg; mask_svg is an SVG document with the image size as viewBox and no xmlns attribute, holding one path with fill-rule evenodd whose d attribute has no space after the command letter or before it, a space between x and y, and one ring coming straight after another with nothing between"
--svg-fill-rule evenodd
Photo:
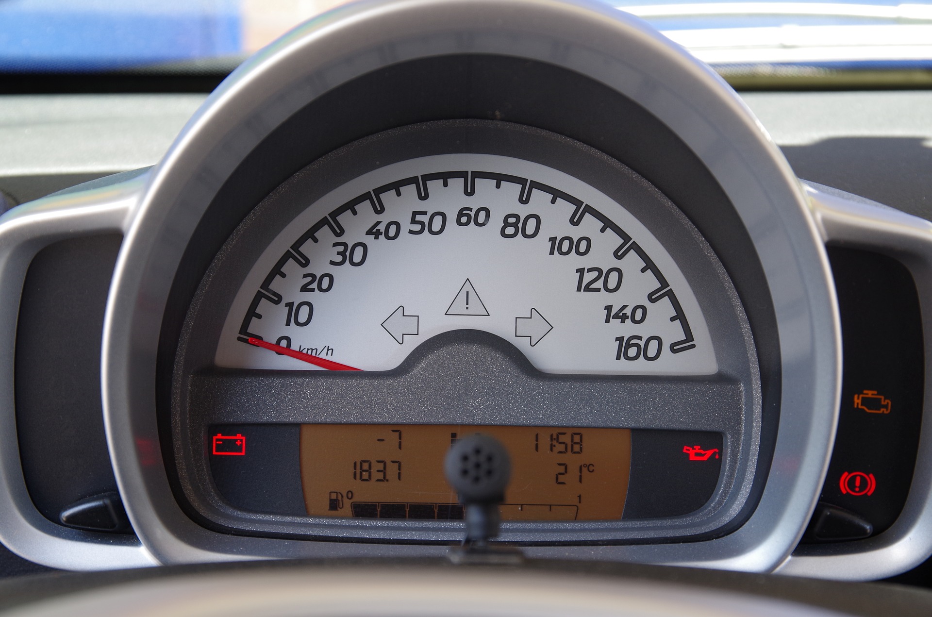
<instances>
[{"instance_id":1,"label":"white semicircular speedometer dial face with red needle at 0","mask_svg":"<svg viewBox=\"0 0 932 617\"><path fill-rule=\"evenodd\" d=\"M548 373L718 370L689 282L624 200L488 154L404 160L308 202L242 282L214 361L384 371L463 328Z\"/></svg>"}]
</instances>

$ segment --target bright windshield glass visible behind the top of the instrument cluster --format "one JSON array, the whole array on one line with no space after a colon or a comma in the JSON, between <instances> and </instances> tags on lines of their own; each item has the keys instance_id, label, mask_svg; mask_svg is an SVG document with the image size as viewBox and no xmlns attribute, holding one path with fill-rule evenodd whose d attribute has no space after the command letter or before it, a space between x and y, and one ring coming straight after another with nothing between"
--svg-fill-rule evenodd
<instances>
[{"instance_id":1,"label":"bright windshield glass visible behind the top of the instrument cluster","mask_svg":"<svg viewBox=\"0 0 932 617\"><path fill-rule=\"evenodd\" d=\"M226 75L336 0L0 0L0 73ZM932 0L651 2L648 21L733 85L932 86Z\"/></svg>"}]
</instances>

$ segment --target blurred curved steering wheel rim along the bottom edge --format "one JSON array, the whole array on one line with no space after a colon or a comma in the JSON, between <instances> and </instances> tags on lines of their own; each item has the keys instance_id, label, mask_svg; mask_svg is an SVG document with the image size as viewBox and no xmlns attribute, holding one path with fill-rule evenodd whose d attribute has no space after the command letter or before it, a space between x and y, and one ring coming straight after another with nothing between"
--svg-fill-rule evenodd
<instances>
[{"instance_id":1,"label":"blurred curved steering wheel rim along the bottom edge","mask_svg":"<svg viewBox=\"0 0 932 617\"><path fill-rule=\"evenodd\" d=\"M301 560L21 577L0 584L0 609L17 617L873 617L932 614L932 592L632 564Z\"/></svg>"}]
</instances>

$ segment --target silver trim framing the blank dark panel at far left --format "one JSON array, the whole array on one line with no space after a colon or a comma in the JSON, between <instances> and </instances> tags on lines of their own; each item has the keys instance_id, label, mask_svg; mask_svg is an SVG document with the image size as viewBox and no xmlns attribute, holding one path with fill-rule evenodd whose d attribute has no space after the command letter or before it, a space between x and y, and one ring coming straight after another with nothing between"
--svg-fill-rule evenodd
<instances>
[{"instance_id":1,"label":"silver trim framing the blank dark panel at far left","mask_svg":"<svg viewBox=\"0 0 932 617\"><path fill-rule=\"evenodd\" d=\"M78 531L40 514L22 477L13 391L19 298L36 253L58 240L124 231L148 174L23 204L0 216L0 542L35 563L61 569L155 564L132 536ZM35 384L41 388L41 384Z\"/></svg>"}]
</instances>

